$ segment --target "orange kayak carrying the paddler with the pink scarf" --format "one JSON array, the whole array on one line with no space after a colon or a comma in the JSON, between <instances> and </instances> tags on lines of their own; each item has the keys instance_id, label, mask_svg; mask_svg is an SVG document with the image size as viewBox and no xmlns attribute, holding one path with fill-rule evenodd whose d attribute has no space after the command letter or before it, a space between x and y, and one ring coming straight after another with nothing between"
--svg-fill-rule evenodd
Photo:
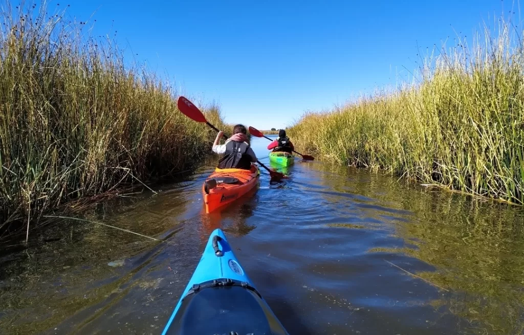
<instances>
[{"instance_id":1,"label":"orange kayak carrying the paddler with the pink scarf","mask_svg":"<svg viewBox=\"0 0 524 335\"><path fill-rule=\"evenodd\" d=\"M242 197L258 184L260 170L251 165L250 170L216 168L202 185L205 212L224 207Z\"/></svg>"}]
</instances>

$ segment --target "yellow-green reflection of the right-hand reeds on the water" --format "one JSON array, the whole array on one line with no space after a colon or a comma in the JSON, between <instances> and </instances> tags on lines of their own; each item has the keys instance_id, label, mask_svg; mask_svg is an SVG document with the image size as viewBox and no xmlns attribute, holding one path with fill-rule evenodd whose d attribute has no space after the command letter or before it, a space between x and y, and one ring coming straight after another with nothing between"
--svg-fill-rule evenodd
<instances>
[{"instance_id":1,"label":"yellow-green reflection of the right-hand reeds on the water","mask_svg":"<svg viewBox=\"0 0 524 335\"><path fill-rule=\"evenodd\" d=\"M402 270L450 291L440 291L442 296L432 300L431 305L439 313L468 320L470 326L461 329L462 333L522 333L524 215L520 207L456 193L421 192L420 187L399 183L396 178L339 164L315 164L312 168L328 176L333 174L333 178L323 178L325 185L354 195L350 198L354 200L348 201L356 208L359 203L374 205L371 209L357 209L365 212L362 224L335 222L331 227L384 231L392 228L390 233L403 239L404 245L371 246L367 252L402 254L434 266L435 271L425 267L420 271L416 262L407 265L388 258ZM336 199L332 194L319 196L333 204L344 203L344 198ZM345 207L352 206L341 208ZM376 218L380 223L370 224L368 218ZM390 264L384 262L384 266ZM402 270L391 268L404 275ZM414 278L415 282L419 280Z\"/></svg>"}]
</instances>

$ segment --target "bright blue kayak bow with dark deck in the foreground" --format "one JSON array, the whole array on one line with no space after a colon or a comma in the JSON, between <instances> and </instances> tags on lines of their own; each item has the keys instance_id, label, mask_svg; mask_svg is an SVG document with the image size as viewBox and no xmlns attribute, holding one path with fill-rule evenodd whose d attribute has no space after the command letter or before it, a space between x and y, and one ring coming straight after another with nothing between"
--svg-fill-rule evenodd
<instances>
[{"instance_id":1,"label":"bright blue kayak bow with dark deck in the foreground","mask_svg":"<svg viewBox=\"0 0 524 335\"><path fill-rule=\"evenodd\" d=\"M289 335L215 229L162 335Z\"/></svg>"}]
</instances>

